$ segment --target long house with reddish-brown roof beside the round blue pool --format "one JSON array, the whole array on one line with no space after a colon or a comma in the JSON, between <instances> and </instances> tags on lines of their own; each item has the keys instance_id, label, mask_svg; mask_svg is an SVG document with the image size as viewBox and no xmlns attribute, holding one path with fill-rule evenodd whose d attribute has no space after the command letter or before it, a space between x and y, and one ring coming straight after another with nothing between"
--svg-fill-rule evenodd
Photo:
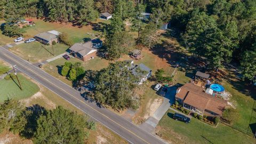
<instances>
[{"instance_id":1,"label":"long house with reddish-brown roof beside the round blue pool","mask_svg":"<svg viewBox=\"0 0 256 144\"><path fill-rule=\"evenodd\" d=\"M184 108L194 113L207 116L221 116L227 106L227 101L206 92L200 86L186 83L177 89L175 100L182 103Z\"/></svg>"}]
</instances>

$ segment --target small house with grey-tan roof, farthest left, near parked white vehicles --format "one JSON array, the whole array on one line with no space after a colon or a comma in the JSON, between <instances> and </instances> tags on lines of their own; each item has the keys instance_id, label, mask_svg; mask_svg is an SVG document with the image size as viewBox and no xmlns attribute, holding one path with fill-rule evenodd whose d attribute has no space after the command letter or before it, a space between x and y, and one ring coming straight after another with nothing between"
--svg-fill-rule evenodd
<instances>
[{"instance_id":1,"label":"small house with grey-tan roof, farthest left, near parked white vehicles","mask_svg":"<svg viewBox=\"0 0 256 144\"><path fill-rule=\"evenodd\" d=\"M61 33L59 31L51 30L51 31L47 31L47 32L35 35L35 39L38 42L41 42L43 44L50 44L51 45L53 41L59 42L59 35L60 34Z\"/></svg>"}]
</instances>

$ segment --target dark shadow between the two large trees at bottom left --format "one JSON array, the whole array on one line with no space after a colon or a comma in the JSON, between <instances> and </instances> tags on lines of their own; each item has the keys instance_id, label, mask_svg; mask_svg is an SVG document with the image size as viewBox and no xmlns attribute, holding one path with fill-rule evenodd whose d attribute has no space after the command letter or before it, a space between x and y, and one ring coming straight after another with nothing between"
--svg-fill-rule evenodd
<instances>
[{"instance_id":1,"label":"dark shadow between the two large trees at bottom left","mask_svg":"<svg viewBox=\"0 0 256 144\"><path fill-rule=\"evenodd\" d=\"M25 129L21 132L21 135L27 139L33 138L36 133L37 119L39 118L39 116L45 114L45 108L39 106L38 104L27 107L26 119L28 123L25 125Z\"/></svg>"}]
</instances>

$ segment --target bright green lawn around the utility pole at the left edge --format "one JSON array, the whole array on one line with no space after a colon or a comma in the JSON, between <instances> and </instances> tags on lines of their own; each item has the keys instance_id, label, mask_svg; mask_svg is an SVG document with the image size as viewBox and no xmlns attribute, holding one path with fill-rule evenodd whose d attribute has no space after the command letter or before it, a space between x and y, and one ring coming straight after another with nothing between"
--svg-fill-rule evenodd
<instances>
[{"instance_id":1,"label":"bright green lawn around the utility pole at the left edge","mask_svg":"<svg viewBox=\"0 0 256 144\"><path fill-rule=\"evenodd\" d=\"M3 102L7 98L17 100L28 98L39 91L39 87L35 83L29 81L26 77L20 74L18 74L18 77L22 86L22 91L18 86L17 79L14 79L15 82L12 81L12 79L8 81L5 79L0 80L0 102Z\"/></svg>"}]
</instances>

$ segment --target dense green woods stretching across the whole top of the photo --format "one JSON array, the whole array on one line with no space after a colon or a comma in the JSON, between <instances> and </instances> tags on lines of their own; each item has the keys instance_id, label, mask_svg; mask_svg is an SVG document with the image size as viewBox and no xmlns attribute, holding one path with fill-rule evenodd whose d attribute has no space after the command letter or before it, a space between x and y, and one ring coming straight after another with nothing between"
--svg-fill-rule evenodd
<instances>
[{"instance_id":1,"label":"dense green woods stretching across the whole top of the photo","mask_svg":"<svg viewBox=\"0 0 256 144\"><path fill-rule=\"evenodd\" d=\"M179 30L183 46L195 58L206 58L207 67L218 69L223 63L235 61L241 64L245 78L253 79L256 73L256 66L251 63L255 63L256 51L254 0L2 0L0 10L0 17L9 22L37 17L81 26L90 24L101 12L113 13L106 41L110 59L121 57L135 44L125 32L124 21L129 20L131 30L138 31L137 44L148 47L156 41L156 29L163 22L170 22L171 28ZM151 13L150 21L138 19L141 12ZM10 34L10 28L6 29ZM15 31L14 35L21 33Z\"/></svg>"}]
</instances>

